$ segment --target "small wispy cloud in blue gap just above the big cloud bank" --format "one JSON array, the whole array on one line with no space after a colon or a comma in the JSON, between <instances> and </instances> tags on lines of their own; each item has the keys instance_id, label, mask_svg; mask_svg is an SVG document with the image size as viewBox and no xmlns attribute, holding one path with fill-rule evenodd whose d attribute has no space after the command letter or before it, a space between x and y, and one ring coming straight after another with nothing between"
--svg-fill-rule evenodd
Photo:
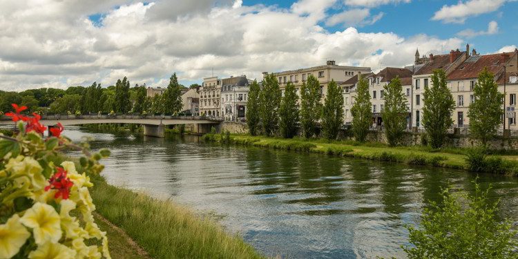
<instances>
[{"instance_id":1,"label":"small wispy cloud in blue gap just above the big cloud bank","mask_svg":"<svg viewBox=\"0 0 518 259\"><path fill-rule=\"evenodd\" d=\"M374 15L374 17L370 17L370 10L367 8L351 9L329 17L325 24L327 26L335 26L337 24L343 24L344 26L365 26L376 23L376 21L382 17L383 12Z\"/></svg>"}]
</instances>

